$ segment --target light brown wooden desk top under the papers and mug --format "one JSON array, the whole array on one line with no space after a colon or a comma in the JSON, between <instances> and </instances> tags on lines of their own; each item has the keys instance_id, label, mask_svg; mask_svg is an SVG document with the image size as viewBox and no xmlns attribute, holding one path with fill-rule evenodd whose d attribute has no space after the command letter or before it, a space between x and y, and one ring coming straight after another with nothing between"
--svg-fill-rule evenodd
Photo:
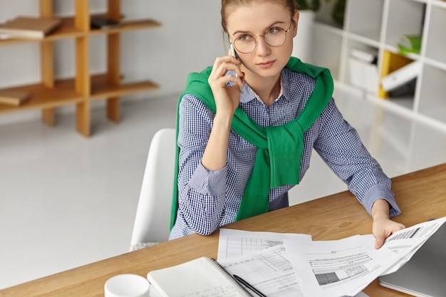
<instances>
[{"instance_id":1,"label":"light brown wooden desk top under the papers and mug","mask_svg":"<svg viewBox=\"0 0 446 297\"><path fill-rule=\"evenodd\" d=\"M412 226L446 216L446 164L392 179L403 212L395 220ZM225 228L311 234L313 240L342 239L370 234L372 220L350 192L323 197L286 209L235 222ZM146 276L148 271L180 264L199 256L217 257L219 232L191 235L115 256L36 281L6 288L0 296L103 296L105 281L120 273ZM30 267L32 269L32 267ZM408 296L374 281L364 290L371 297Z\"/></svg>"}]
</instances>

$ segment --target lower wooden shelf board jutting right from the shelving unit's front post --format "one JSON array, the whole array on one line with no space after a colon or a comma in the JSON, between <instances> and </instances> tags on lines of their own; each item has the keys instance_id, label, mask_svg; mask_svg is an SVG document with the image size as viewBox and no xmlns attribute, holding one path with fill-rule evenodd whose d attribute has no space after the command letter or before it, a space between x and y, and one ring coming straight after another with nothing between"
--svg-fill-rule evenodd
<instances>
[{"instance_id":1,"label":"lower wooden shelf board jutting right from the shelving unit's front post","mask_svg":"<svg viewBox=\"0 0 446 297\"><path fill-rule=\"evenodd\" d=\"M107 75L93 75L91 77L91 99L113 98L146 90L156 90L159 86L149 80L134 83L110 83Z\"/></svg>"}]
</instances>

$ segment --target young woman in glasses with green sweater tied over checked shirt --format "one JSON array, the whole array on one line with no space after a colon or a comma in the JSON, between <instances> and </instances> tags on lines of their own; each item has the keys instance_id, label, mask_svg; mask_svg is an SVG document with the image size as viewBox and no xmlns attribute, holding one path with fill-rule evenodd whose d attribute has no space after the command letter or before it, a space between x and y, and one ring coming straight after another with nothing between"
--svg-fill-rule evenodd
<instances>
[{"instance_id":1,"label":"young woman in glasses with green sweater tied over checked shirt","mask_svg":"<svg viewBox=\"0 0 446 297\"><path fill-rule=\"evenodd\" d=\"M170 239L289 206L313 149L373 218L376 248L404 228L390 219L400 213L390 179L331 98L329 71L291 57L298 21L295 0L222 0L235 55L191 73L180 97Z\"/></svg>"}]
</instances>

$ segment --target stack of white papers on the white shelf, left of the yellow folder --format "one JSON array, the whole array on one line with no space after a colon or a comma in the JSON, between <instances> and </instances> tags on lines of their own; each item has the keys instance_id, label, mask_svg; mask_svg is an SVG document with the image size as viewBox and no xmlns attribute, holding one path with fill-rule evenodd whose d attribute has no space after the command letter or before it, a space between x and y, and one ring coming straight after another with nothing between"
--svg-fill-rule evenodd
<instances>
[{"instance_id":1,"label":"stack of white papers on the white shelf, left of the yellow folder","mask_svg":"<svg viewBox=\"0 0 446 297\"><path fill-rule=\"evenodd\" d=\"M368 93L378 92L378 50L352 48L348 60L351 85Z\"/></svg>"}]
</instances>

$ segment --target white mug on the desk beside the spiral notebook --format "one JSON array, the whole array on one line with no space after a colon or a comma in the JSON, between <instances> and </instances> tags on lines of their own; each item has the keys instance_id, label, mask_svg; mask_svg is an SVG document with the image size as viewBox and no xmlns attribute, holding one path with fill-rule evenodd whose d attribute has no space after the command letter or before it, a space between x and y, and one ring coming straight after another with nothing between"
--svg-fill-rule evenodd
<instances>
[{"instance_id":1,"label":"white mug on the desk beside the spiral notebook","mask_svg":"<svg viewBox=\"0 0 446 297\"><path fill-rule=\"evenodd\" d=\"M120 274L105 282L105 297L149 297L149 281L136 274Z\"/></svg>"}]
</instances>

